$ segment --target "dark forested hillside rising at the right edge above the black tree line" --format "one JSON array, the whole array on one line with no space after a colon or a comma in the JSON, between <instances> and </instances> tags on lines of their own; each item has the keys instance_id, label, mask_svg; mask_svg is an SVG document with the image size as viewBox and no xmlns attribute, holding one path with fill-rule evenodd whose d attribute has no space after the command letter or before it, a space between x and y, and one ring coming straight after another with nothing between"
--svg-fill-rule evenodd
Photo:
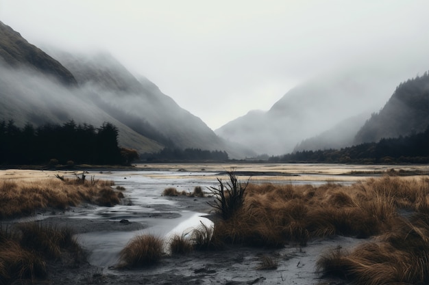
<instances>
[{"instance_id":1,"label":"dark forested hillside rising at the right edge above the black tree line","mask_svg":"<svg viewBox=\"0 0 429 285\"><path fill-rule=\"evenodd\" d=\"M429 126L429 74L397 86L386 105L360 128L354 144L422 133Z\"/></svg>"}]
</instances>

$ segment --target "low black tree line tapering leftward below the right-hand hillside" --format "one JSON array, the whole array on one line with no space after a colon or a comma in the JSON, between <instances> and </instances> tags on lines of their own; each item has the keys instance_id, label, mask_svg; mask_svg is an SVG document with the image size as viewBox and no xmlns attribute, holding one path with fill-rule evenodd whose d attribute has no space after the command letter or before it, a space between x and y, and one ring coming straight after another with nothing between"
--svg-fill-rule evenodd
<instances>
[{"instance_id":1,"label":"low black tree line tapering leftward below the right-hand hillside","mask_svg":"<svg viewBox=\"0 0 429 285\"><path fill-rule=\"evenodd\" d=\"M271 162L284 163L429 163L429 127L423 133L381 139L341 150L304 150L277 157Z\"/></svg>"}]
</instances>

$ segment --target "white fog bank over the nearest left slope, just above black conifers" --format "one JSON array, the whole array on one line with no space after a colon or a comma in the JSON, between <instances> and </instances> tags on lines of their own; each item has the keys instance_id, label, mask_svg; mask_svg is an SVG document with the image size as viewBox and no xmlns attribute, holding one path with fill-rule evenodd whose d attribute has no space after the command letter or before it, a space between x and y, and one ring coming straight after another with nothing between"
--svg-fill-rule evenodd
<instances>
[{"instance_id":1,"label":"white fog bank over the nearest left slope, just above black conifers","mask_svg":"<svg viewBox=\"0 0 429 285\"><path fill-rule=\"evenodd\" d=\"M0 66L0 74L0 120L14 120L21 127L27 122L41 126L74 120L98 128L103 122L112 122L121 130L119 140L123 145L140 152L162 148L100 109L92 98L101 90L94 86L65 87L53 77L26 68Z\"/></svg>"}]
</instances>

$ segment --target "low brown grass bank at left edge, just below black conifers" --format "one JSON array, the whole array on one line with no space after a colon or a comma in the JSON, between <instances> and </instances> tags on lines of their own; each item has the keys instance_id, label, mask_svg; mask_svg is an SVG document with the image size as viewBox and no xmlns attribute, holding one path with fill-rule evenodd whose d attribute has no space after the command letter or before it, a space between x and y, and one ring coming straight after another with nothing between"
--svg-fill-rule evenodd
<instances>
[{"instance_id":1,"label":"low brown grass bank at left edge, just below black conifers","mask_svg":"<svg viewBox=\"0 0 429 285\"><path fill-rule=\"evenodd\" d=\"M123 194L112 181L45 179L0 182L0 218L31 215L40 208L66 209L81 202L113 206Z\"/></svg>"}]
</instances>

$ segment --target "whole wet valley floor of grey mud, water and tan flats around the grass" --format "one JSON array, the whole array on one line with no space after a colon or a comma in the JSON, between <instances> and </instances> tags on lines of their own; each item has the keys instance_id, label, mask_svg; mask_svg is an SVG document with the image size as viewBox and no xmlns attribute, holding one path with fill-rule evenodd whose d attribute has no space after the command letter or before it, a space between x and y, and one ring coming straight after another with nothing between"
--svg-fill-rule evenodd
<instances>
[{"instance_id":1,"label":"whole wet valley floor of grey mud, water and tan flats around the grass","mask_svg":"<svg viewBox=\"0 0 429 285\"><path fill-rule=\"evenodd\" d=\"M88 252L88 263L71 267L50 262L49 277L40 284L345 284L321 279L315 263L328 249L352 248L365 240L335 236L317 239L306 247L286 245L280 249L225 247L219 251L196 251L166 255L152 267L116 269L119 251L133 236L143 232L168 236L198 224L212 208L212 200L185 196L164 197L166 187L191 192L195 186L208 191L217 178L226 179L225 171L234 169L240 180L254 183L321 185L326 182L353 183L387 172L424 173L428 165L308 165L308 164L154 164L136 165L132 171L106 171L86 174L96 179L114 180L125 187L123 202L113 207L82 204L67 211L45 211L1 223L36 220L69 226ZM80 172L80 171L79 171ZM75 172L8 169L0 171L1 180L38 180L75 176ZM407 178L416 178L411 175ZM181 225L180 227L178 227ZM275 269L260 270L264 257L277 264ZM35 282L35 284L39 284Z\"/></svg>"}]
</instances>

